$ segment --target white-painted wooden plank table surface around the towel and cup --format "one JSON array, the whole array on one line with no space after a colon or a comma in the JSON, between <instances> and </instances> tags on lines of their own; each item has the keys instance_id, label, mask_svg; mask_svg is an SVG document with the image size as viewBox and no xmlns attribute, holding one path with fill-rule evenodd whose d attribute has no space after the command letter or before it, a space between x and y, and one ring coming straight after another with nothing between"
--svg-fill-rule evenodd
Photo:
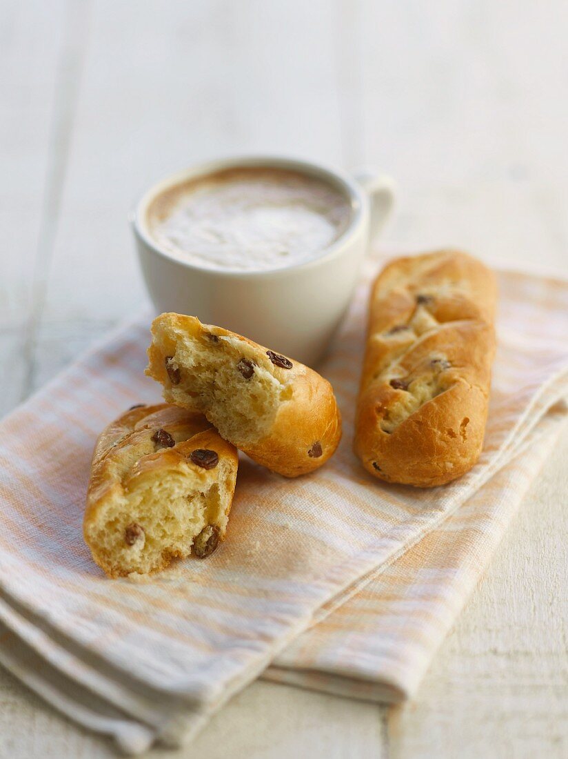
<instances>
[{"instance_id":1,"label":"white-painted wooden plank table surface around the towel and cup","mask_svg":"<svg viewBox=\"0 0 568 759\"><path fill-rule=\"evenodd\" d=\"M373 0L4 0L0 412L145 294L127 210L225 153L400 183L386 242L568 269L568 6ZM418 698L258 682L190 757L566 756L568 434ZM0 671L0 757L107 757Z\"/></svg>"}]
</instances>

